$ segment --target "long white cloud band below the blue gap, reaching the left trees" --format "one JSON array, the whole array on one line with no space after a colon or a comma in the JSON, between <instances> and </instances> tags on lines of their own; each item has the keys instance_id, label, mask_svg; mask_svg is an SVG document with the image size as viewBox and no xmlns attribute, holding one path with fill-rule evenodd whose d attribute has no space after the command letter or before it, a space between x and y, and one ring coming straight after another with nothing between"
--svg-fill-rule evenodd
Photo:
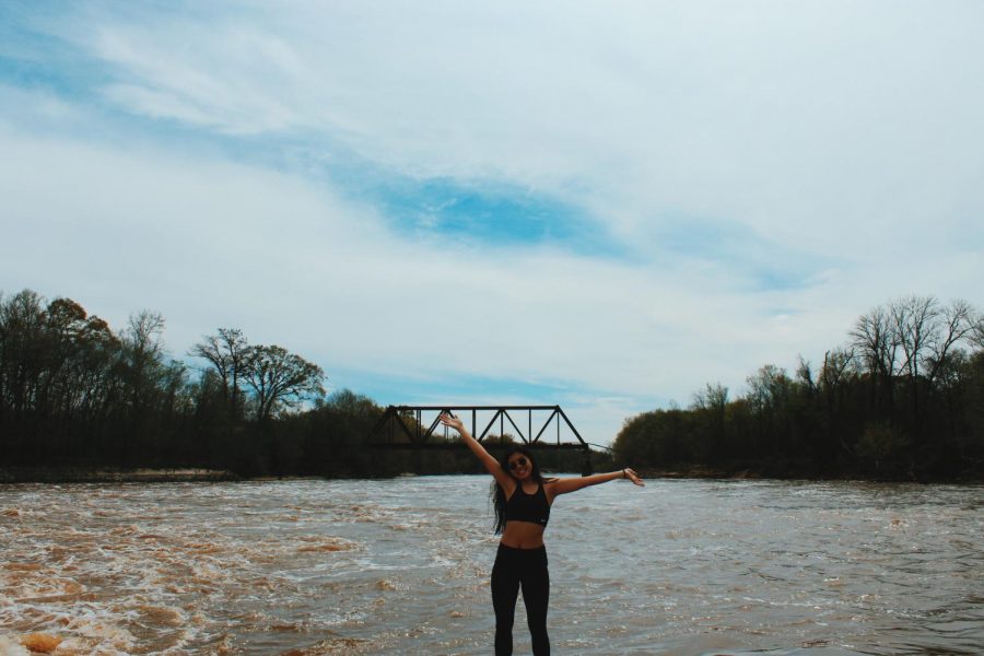
<instances>
[{"instance_id":1,"label":"long white cloud band below the blue gap, reaching the left trees","mask_svg":"<svg viewBox=\"0 0 984 656\"><path fill-rule=\"evenodd\" d=\"M734 345L721 323L758 312L635 265L401 242L370 208L237 164L9 130L0 144L2 286L115 326L161 311L178 354L233 325L329 375L549 376L657 398L718 375L702 344Z\"/></svg>"}]
</instances>

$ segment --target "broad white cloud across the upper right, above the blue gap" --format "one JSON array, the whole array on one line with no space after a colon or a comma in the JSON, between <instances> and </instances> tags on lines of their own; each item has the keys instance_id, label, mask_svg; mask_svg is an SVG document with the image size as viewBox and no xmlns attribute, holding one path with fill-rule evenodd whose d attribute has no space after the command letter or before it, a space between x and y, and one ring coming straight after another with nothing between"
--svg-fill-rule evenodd
<instances>
[{"instance_id":1,"label":"broad white cloud across the upper right, above the blue gap","mask_svg":"<svg viewBox=\"0 0 984 656\"><path fill-rule=\"evenodd\" d=\"M761 2L307 4L73 37L130 112L316 130L411 175L572 194L637 238L666 212L866 253L982 209L984 10Z\"/></svg>"}]
</instances>

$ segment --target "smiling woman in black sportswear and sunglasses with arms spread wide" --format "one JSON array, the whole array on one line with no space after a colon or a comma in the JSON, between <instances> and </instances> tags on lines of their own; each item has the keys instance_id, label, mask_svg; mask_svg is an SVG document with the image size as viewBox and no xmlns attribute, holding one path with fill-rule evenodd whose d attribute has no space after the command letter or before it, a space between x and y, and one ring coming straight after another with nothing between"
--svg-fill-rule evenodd
<instances>
[{"instance_id":1,"label":"smiling woman in black sportswear and sunglasses with arms spread wide","mask_svg":"<svg viewBox=\"0 0 984 656\"><path fill-rule=\"evenodd\" d=\"M547 600L550 575L547 572L547 548L543 529L550 518L550 506L560 494L575 492L616 479L628 478L636 485L642 479L631 469L596 473L583 478L547 479L540 476L532 455L515 447L502 461L489 455L454 414L442 413L441 423L456 430L468 448L495 479L495 532L502 534L495 564L492 566L492 607L495 609L495 654L513 653L513 616L516 597L523 587L526 619L536 656L550 654L547 636Z\"/></svg>"}]
</instances>

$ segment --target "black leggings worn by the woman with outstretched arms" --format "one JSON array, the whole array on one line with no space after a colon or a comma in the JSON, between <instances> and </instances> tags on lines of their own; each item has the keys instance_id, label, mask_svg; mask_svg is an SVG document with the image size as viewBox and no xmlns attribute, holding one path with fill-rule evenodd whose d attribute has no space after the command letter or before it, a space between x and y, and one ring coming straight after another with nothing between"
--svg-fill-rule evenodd
<instances>
[{"instance_id":1,"label":"black leggings worn by the woman with outstretched arms","mask_svg":"<svg viewBox=\"0 0 984 656\"><path fill-rule=\"evenodd\" d=\"M492 566L495 656L513 653L513 616L520 585L534 655L549 656L547 600L550 597L550 574L547 572L547 548L514 549L502 543L499 544L495 564Z\"/></svg>"}]
</instances>

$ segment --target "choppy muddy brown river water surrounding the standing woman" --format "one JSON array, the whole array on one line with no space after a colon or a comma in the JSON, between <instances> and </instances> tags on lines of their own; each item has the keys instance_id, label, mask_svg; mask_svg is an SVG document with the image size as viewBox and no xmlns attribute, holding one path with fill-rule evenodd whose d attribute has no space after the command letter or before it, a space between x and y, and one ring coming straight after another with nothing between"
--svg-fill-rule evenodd
<instances>
[{"instance_id":1,"label":"choppy muddy brown river water surrounding the standing woman","mask_svg":"<svg viewBox=\"0 0 984 656\"><path fill-rule=\"evenodd\" d=\"M485 654L485 477L0 487L0 653ZM558 500L566 654L984 653L984 488L616 482ZM522 604L516 652L528 653Z\"/></svg>"}]
</instances>

